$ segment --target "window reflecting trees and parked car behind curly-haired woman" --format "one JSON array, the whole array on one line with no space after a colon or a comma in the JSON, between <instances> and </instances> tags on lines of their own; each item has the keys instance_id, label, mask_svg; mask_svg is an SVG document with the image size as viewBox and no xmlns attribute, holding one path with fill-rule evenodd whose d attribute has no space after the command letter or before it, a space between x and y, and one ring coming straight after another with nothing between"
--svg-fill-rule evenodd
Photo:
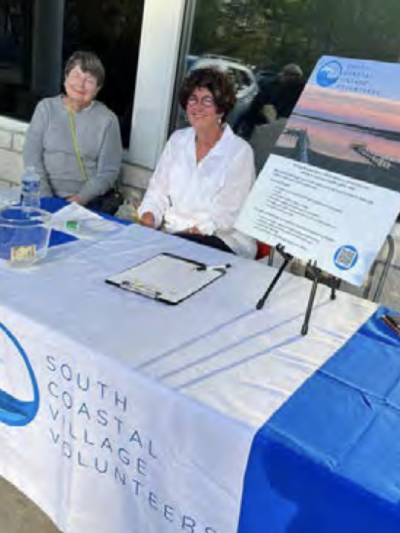
<instances>
[{"instance_id":1,"label":"window reflecting trees and parked car behind curly-haired woman","mask_svg":"<svg viewBox=\"0 0 400 533\"><path fill-rule=\"evenodd\" d=\"M289 63L307 77L321 55L398 61L399 17L398 0L197 0L186 70L208 63L228 73L238 98L229 122L246 135L249 109L259 113Z\"/></svg>"}]
</instances>

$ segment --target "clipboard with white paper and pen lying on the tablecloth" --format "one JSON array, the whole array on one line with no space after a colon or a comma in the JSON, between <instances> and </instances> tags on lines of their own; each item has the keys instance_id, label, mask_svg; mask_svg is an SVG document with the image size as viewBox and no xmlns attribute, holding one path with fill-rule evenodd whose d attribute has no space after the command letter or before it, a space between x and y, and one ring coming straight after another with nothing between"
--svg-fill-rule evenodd
<instances>
[{"instance_id":1,"label":"clipboard with white paper and pen lying on the tablecloth","mask_svg":"<svg viewBox=\"0 0 400 533\"><path fill-rule=\"evenodd\" d=\"M204 263L161 253L105 280L120 289L177 305L226 273L230 265L210 269Z\"/></svg>"}]
</instances>

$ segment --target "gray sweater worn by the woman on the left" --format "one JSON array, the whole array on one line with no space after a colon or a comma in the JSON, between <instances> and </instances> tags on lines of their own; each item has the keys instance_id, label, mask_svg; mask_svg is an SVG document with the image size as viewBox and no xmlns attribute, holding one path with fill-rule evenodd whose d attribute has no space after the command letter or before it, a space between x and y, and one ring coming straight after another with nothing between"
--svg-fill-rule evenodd
<instances>
[{"instance_id":1,"label":"gray sweater worn by the woman on the left","mask_svg":"<svg viewBox=\"0 0 400 533\"><path fill-rule=\"evenodd\" d=\"M24 164L41 176L41 195L69 198L79 194L86 204L115 183L122 161L118 119L100 102L74 113L77 144L88 181L84 181L74 149L68 109L62 97L45 98L29 125Z\"/></svg>"}]
</instances>

